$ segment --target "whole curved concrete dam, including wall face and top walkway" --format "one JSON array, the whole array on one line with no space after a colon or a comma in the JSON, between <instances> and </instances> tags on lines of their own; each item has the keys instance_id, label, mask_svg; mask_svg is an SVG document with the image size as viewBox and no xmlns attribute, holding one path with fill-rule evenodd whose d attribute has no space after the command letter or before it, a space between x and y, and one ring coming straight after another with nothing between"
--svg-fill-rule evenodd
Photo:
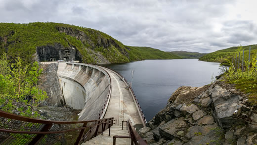
<instances>
[{"instance_id":1,"label":"whole curved concrete dam, including wall face and top walkway","mask_svg":"<svg viewBox=\"0 0 257 145\"><path fill-rule=\"evenodd\" d=\"M79 121L114 117L114 125L122 125L122 121L130 119L133 125L145 127L142 109L120 74L91 64L49 63L57 67L64 103L82 110L78 114Z\"/></svg>"}]
</instances>

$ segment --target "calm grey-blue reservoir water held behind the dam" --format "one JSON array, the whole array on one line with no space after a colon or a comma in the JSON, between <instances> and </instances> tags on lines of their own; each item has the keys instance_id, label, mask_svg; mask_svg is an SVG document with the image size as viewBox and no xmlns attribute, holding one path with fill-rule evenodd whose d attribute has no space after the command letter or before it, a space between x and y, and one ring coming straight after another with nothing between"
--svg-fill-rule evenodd
<instances>
[{"instance_id":1,"label":"calm grey-blue reservoir water held behind the dam","mask_svg":"<svg viewBox=\"0 0 257 145\"><path fill-rule=\"evenodd\" d=\"M147 121L166 106L178 87L201 87L219 75L219 63L198 59L144 60L105 67L119 72L128 82L134 69L132 89Z\"/></svg>"}]
</instances>

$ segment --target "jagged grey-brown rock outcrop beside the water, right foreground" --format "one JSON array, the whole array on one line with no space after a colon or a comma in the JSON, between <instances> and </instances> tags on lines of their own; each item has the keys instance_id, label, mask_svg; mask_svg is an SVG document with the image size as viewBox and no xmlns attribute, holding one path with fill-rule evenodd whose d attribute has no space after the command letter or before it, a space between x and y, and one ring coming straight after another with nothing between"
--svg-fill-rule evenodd
<instances>
[{"instance_id":1,"label":"jagged grey-brown rock outcrop beside the water, right foreground","mask_svg":"<svg viewBox=\"0 0 257 145\"><path fill-rule=\"evenodd\" d=\"M182 86L139 130L150 145L255 145L257 109L233 85Z\"/></svg>"}]
</instances>

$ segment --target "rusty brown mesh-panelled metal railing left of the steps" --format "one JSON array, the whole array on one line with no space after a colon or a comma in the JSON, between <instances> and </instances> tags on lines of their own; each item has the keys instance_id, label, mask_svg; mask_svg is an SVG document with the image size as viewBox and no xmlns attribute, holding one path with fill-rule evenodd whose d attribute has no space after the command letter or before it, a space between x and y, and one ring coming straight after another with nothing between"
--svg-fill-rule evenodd
<instances>
[{"instance_id":1,"label":"rusty brown mesh-panelled metal railing left of the steps","mask_svg":"<svg viewBox=\"0 0 257 145\"><path fill-rule=\"evenodd\" d=\"M113 118L90 121L49 121L0 110L0 145L79 145L109 129ZM84 134L87 132L86 134Z\"/></svg>"}]
</instances>

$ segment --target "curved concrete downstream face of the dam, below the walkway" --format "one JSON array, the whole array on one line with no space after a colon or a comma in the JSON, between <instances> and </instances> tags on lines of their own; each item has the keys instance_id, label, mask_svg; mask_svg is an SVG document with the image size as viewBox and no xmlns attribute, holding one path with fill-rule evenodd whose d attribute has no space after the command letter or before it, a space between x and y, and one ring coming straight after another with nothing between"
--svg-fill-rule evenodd
<instances>
[{"instance_id":1,"label":"curved concrete downstream face of the dam, below the walkway","mask_svg":"<svg viewBox=\"0 0 257 145\"><path fill-rule=\"evenodd\" d=\"M65 104L82 109L79 120L104 116L110 91L110 78L104 70L94 65L59 62L57 74Z\"/></svg>"}]
</instances>

